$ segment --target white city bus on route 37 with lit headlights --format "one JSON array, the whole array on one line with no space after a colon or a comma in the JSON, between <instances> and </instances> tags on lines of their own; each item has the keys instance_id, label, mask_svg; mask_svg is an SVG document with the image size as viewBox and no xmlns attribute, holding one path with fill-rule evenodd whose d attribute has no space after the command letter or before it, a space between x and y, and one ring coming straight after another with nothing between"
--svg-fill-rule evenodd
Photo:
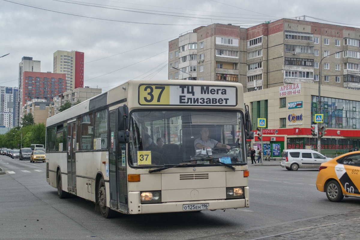
<instances>
[{"instance_id":1,"label":"white city bus on route 37 with lit headlights","mask_svg":"<svg viewBox=\"0 0 360 240\"><path fill-rule=\"evenodd\" d=\"M249 207L249 121L239 83L131 80L48 118L46 181L106 218Z\"/></svg>"}]
</instances>

